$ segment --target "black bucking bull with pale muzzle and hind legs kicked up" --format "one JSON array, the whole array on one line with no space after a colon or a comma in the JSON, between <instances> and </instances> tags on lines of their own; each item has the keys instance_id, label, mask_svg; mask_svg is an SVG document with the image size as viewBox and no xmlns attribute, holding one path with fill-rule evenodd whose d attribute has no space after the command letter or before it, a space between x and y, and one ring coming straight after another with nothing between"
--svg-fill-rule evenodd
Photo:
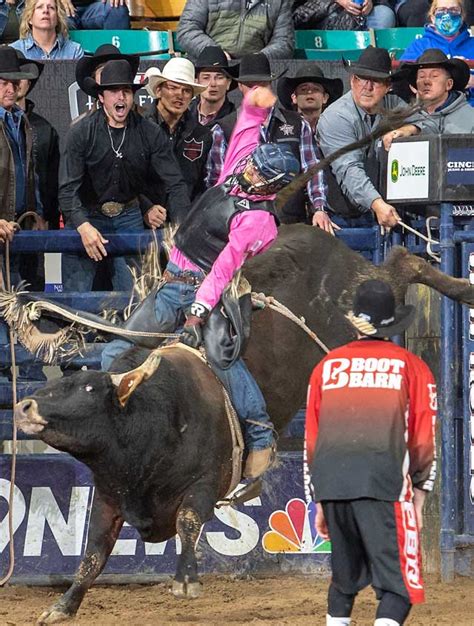
<instances>
[{"instance_id":1,"label":"black bucking bull with pale muzzle and hind legs kicked up","mask_svg":"<svg viewBox=\"0 0 474 626\"><path fill-rule=\"evenodd\" d=\"M245 275L254 291L303 316L330 348L353 338L343 313L367 278L389 281L398 301L409 284L419 282L474 304L467 280L442 274L403 248L375 267L337 239L303 225L283 227L273 247L246 264ZM116 361L116 371L136 367L146 354L132 349ZM254 315L245 359L279 430L302 406L321 357L321 349L287 318L269 309ZM173 591L198 594L195 542L226 495L232 454L222 390L206 365L183 350L168 351L124 407L109 374L78 372L20 402L15 417L26 432L88 465L96 485L86 554L73 585L43 613L42 623L76 613L124 521L146 541L177 532L183 550Z\"/></svg>"}]
</instances>

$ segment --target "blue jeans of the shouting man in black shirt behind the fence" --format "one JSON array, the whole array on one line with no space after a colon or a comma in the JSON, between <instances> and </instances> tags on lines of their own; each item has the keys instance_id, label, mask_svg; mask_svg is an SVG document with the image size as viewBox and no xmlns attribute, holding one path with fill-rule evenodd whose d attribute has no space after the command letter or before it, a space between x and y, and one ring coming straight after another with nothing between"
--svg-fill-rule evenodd
<instances>
[{"instance_id":1,"label":"blue jeans of the shouting man in black shirt behind the fence","mask_svg":"<svg viewBox=\"0 0 474 626\"><path fill-rule=\"evenodd\" d=\"M95 214L89 217L88 221L104 233L120 233L125 231L144 231L143 217L138 207L131 208L116 217L106 217L102 214ZM72 228L66 226L66 228ZM105 237L107 239L107 237ZM112 286L115 291L131 291L133 288L133 277L129 266L138 267L139 262L135 256L114 256L107 257L109 264ZM64 291L80 291L85 293L91 291L94 282L97 263L90 259L84 252L83 255L63 254L62 255L62 276Z\"/></svg>"}]
</instances>

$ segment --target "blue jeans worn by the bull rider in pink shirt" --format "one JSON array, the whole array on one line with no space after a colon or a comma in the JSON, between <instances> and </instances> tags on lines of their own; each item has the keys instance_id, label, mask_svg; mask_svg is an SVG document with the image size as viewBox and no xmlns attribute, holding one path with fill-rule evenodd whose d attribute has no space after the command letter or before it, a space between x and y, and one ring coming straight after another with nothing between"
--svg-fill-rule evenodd
<instances>
[{"instance_id":1,"label":"blue jeans worn by the bull rider in pink shirt","mask_svg":"<svg viewBox=\"0 0 474 626\"><path fill-rule=\"evenodd\" d=\"M173 274L179 274L181 271L174 263L168 263L167 269ZM200 278L203 276L201 273L197 275ZM197 286L184 283L166 283L158 291L155 300L155 315L162 332L174 332L183 324L184 311L194 302L197 289ZM130 347L131 344L123 339L107 344L102 352L102 369L109 371L115 357ZM241 421L247 449L263 450L270 447L273 442L273 432L265 400L243 360L239 359L226 370L215 366L212 369L229 392ZM252 424L247 420L258 423Z\"/></svg>"}]
</instances>

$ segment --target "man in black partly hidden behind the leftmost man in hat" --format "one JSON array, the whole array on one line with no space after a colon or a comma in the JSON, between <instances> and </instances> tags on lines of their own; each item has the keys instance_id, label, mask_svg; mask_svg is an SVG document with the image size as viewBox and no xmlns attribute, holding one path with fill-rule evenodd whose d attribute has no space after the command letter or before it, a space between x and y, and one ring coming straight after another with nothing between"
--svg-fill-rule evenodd
<instances>
[{"instance_id":1,"label":"man in black partly hidden behind the leftmost man in hat","mask_svg":"<svg viewBox=\"0 0 474 626\"><path fill-rule=\"evenodd\" d=\"M25 57L17 50L20 60ZM40 66L40 73L43 69ZM39 78L39 75L38 75ZM35 103L28 99L28 94L36 85L38 78L20 80L17 93L17 105L26 113L33 131L33 162L38 175L39 195L43 206L43 217L48 228L59 228L58 173L59 173L59 137L55 128L41 115L34 111ZM34 288L34 291L39 289Z\"/></svg>"}]
</instances>

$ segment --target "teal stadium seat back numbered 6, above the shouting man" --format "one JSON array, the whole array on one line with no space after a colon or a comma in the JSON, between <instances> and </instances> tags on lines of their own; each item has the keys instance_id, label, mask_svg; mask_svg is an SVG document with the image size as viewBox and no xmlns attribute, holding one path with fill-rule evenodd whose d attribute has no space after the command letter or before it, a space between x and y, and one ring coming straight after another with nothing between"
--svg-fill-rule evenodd
<instances>
[{"instance_id":1,"label":"teal stadium seat back numbered 6, above the shouting man","mask_svg":"<svg viewBox=\"0 0 474 626\"><path fill-rule=\"evenodd\" d=\"M160 51L150 59L169 59L168 31L160 30L71 30L69 36L80 43L84 52L93 53L104 43L111 43L127 54Z\"/></svg>"}]
</instances>

